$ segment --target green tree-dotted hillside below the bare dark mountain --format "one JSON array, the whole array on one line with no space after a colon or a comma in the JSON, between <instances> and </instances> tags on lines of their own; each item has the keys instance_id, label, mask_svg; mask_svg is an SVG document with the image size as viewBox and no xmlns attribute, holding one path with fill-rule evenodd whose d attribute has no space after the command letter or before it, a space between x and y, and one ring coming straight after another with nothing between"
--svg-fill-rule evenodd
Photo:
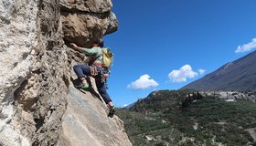
<instances>
[{"instance_id":1,"label":"green tree-dotted hillside below the bare dark mountain","mask_svg":"<svg viewBox=\"0 0 256 146\"><path fill-rule=\"evenodd\" d=\"M155 91L130 110L119 110L133 145L256 145L254 102L226 102L197 93L194 100L187 100L188 93Z\"/></svg>"}]
</instances>

